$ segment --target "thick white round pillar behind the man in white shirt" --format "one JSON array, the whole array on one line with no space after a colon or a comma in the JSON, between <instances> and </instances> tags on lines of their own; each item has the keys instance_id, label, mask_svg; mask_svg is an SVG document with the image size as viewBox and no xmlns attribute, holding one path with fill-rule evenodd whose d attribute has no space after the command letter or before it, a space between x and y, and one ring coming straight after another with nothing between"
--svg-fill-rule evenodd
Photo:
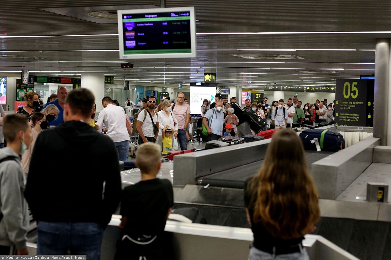
<instances>
[{"instance_id":1,"label":"thick white round pillar behind the man in white shirt","mask_svg":"<svg viewBox=\"0 0 391 260\"><path fill-rule=\"evenodd\" d=\"M97 104L96 112L100 112L103 109L102 98L104 97L104 73L82 73L81 87L92 91L95 96L95 103Z\"/></svg>"}]
</instances>

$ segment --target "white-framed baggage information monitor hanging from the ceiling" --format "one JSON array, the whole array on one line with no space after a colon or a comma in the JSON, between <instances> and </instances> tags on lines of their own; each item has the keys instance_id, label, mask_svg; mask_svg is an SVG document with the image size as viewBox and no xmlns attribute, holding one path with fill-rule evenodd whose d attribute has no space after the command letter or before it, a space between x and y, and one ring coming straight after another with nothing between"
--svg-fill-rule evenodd
<instances>
[{"instance_id":1,"label":"white-framed baggage information monitor hanging from the ceiling","mask_svg":"<svg viewBox=\"0 0 391 260\"><path fill-rule=\"evenodd\" d=\"M118 10L120 59L195 57L194 7Z\"/></svg>"}]
</instances>

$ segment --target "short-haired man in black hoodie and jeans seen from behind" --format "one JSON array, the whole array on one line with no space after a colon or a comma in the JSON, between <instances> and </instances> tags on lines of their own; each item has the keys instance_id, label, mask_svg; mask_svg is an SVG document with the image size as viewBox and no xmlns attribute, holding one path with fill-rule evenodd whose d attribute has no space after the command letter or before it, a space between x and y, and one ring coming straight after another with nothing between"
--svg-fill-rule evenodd
<instances>
[{"instance_id":1,"label":"short-haired man in black hoodie and jeans seen from behind","mask_svg":"<svg viewBox=\"0 0 391 260\"><path fill-rule=\"evenodd\" d=\"M103 229L120 201L121 177L113 141L84 123L94 99L88 89L71 91L64 123L40 133L35 143L24 194L38 221L38 255L70 250L88 260L100 258ZM53 163L56 168L49 167Z\"/></svg>"}]
</instances>

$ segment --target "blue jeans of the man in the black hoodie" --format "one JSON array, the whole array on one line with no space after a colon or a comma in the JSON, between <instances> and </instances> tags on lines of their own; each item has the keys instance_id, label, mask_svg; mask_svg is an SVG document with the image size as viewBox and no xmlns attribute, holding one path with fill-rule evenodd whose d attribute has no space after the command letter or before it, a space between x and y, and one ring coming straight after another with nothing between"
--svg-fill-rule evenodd
<instances>
[{"instance_id":1,"label":"blue jeans of the man in the black hoodie","mask_svg":"<svg viewBox=\"0 0 391 260\"><path fill-rule=\"evenodd\" d=\"M97 223L38 221L37 255L87 255L100 260L103 229Z\"/></svg>"}]
</instances>

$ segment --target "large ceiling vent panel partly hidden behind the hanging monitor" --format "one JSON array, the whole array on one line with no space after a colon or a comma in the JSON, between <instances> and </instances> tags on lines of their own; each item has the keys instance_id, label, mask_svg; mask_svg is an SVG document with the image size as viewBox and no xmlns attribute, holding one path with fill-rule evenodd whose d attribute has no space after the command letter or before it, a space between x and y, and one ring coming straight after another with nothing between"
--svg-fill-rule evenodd
<instances>
[{"instance_id":1,"label":"large ceiling vent panel partly hidden behind the hanging monitor","mask_svg":"<svg viewBox=\"0 0 391 260\"><path fill-rule=\"evenodd\" d=\"M112 5L43 8L39 10L61 14L93 23L117 23L117 10L158 8L156 5Z\"/></svg>"}]
</instances>

